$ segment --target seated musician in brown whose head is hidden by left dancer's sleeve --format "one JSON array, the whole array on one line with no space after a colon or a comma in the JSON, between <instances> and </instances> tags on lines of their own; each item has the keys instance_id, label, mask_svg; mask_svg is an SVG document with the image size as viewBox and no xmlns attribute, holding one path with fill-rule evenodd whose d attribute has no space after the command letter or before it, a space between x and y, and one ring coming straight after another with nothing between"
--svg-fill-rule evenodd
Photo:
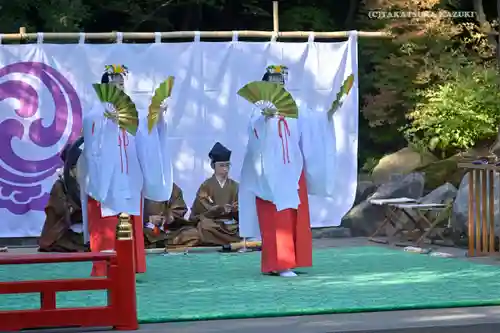
<instances>
[{"instance_id":1,"label":"seated musician in brown whose head is hidden by left dancer's sleeve","mask_svg":"<svg viewBox=\"0 0 500 333\"><path fill-rule=\"evenodd\" d=\"M170 236L184 227L193 225L184 218L187 213L182 190L173 184L172 195L168 201L144 200L144 245L146 248L163 248L168 245Z\"/></svg>"}]
</instances>

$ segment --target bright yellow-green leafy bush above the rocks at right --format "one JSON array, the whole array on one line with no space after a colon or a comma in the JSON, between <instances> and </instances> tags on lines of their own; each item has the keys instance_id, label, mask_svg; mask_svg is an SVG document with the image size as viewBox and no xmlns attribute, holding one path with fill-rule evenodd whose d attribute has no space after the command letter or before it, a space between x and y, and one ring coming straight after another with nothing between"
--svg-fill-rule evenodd
<instances>
[{"instance_id":1,"label":"bright yellow-green leafy bush above the rocks at right","mask_svg":"<svg viewBox=\"0 0 500 333\"><path fill-rule=\"evenodd\" d=\"M468 64L442 84L419 93L403 132L410 142L450 156L496 136L500 124L500 78L493 68Z\"/></svg>"}]
</instances>

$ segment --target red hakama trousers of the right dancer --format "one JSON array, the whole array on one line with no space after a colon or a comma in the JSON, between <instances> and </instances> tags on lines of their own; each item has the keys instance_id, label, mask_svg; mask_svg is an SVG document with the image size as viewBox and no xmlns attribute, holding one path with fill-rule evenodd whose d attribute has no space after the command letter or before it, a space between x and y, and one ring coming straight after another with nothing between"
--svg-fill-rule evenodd
<instances>
[{"instance_id":1,"label":"red hakama trousers of the right dancer","mask_svg":"<svg viewBox=\"0 0 500 333\"><path fill-rule=\"evenodd\" d=\"M300 204L297 209L278 212L272 202L256 198L263 273L312 266L312 232L304 171L298 191Z\"/></svg>"}]
</instances>

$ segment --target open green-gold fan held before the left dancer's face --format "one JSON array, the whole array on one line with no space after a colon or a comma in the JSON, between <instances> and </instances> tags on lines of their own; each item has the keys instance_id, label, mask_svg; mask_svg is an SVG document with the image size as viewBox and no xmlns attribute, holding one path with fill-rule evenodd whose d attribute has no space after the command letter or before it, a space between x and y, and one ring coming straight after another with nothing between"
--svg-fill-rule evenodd
<instances>
[{"instance_id":1,"label":"open green-gold fan held before the left dancer's face","mask_svg":"<svg viewBox=\"0 0 500 333\"><path fill-rule=\"evenodd\" d=\"M95 83L92 86L101 102L110 103L114 107L112 112L105 111L104 115L120 128L135 135L139 125L139 114L130 97L111 84Z\"/></svg>"}]
</instances>

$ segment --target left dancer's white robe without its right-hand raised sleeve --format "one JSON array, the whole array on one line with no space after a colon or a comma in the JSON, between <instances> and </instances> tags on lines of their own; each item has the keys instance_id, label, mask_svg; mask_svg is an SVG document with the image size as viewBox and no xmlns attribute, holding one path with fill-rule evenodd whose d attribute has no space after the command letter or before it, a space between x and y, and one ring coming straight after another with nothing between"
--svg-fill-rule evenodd
<instances>
[{"instance_id":1,"label":"left dancer's white robe without its right-hand raised sleeve","mask_svg":"<svg viewBox=\"0 0 500 333\"><path fill-rule=\"evenodd\" d=\"M87 195L101 203L103 217L141 214L144 175L135 137L104 116L96 103L83 117L85 144L78 159L84 239L89 240Z\"/></svg>"}]
</instances>

